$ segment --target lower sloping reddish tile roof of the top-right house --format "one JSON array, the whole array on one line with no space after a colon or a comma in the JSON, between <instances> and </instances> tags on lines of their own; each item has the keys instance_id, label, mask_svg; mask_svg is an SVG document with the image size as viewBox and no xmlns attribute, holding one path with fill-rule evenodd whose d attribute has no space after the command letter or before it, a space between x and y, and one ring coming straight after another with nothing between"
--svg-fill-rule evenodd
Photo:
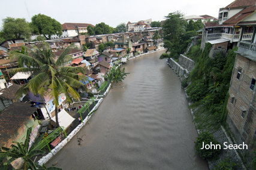
<instances>
[{"instance_id":1,"label":"lower sloping reddish tile roof of the top-right house","mask_svg":"<svg viewBox=\"0 0 256 170\"><path fill-rule=\"evenodd\" d=\"M247 7L244 10L240 11L233 17L226 20L223 24L236 24L245 19L246 17L250 16L255 11L255 5L251 7Z\"/></svg>"}]
</instances>

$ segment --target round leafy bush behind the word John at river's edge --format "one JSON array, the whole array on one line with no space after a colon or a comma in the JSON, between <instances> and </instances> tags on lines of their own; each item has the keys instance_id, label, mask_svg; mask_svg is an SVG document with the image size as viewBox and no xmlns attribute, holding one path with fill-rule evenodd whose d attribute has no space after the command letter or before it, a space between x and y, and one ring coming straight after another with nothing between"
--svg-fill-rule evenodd
<instances>
[{"instance_id":1,"label":"round leafy bush behind the word John at river's edge","mask_svg":"<svg viewBox=\"0 0 256 170\"><path fill-rule=\"evenodd\" d=\"M214 144L216 146L216 144L221 145L214 137L212 134L210 134L210 132L202 132L201 134L198 135L197 140L195 141L195 153L199 154L199 156L202 159L207 159L207 160L214 160L216 158L218 158L218 154L221 153L221 149L219 149L219 147L217 148L213 148L212 149L201 149L203 147L203 143L204 146L206 146L206 144Z\"/></svg>"}]
</instances>

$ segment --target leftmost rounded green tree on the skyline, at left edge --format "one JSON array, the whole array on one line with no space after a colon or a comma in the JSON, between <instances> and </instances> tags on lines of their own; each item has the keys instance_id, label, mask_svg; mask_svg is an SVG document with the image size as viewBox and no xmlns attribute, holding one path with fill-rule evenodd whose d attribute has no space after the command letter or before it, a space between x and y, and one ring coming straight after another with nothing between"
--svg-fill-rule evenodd
<instances>
[{"instance_id":1,"label":"leftmost rounded green tree on the skyline, at left edge","mask_svg":"<svg viewBox=\"0 0 256 170\"><path fill-rule=\"evenodd\" d=\"M25 18L7 17L2 19L1 35L4 39L29 39L31 28Z\"/></svg>"}]
</instances>

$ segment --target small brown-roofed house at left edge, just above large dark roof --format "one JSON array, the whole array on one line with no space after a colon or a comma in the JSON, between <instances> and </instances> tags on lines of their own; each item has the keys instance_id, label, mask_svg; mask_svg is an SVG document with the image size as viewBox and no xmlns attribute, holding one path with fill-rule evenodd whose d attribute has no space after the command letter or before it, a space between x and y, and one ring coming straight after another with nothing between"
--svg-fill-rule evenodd
<instances>
[{"instance_id":1,"label":"small brown-roofed house at left edge, just above large dark roof","mask_svg":"<svg viewBox=\"0 0 256 170\"><path fill-rule=\"evenodd\" d=\"M4 110L14 102L19 101L15 94L20 88L20 85L9 84L6 88L1 89L0 91L0 110Z\"/></svg>"}]
</instances>

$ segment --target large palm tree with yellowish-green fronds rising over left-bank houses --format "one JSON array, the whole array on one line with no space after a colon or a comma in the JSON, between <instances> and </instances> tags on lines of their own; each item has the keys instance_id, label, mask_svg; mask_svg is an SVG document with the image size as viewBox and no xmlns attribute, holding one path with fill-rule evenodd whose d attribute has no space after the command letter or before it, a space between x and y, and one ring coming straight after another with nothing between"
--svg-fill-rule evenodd
<instances>
[{"instance_id":1,"label":"large palm tree with yellowish-green fronds rising over left-bank houses","mask_svg":"<svg viewBox=\"0 0 256 170\"><path fill-rule=\"evenodd\" d=\"M11 69L12 72L31 72L34 75L28 84L19 88L16 96L22 97L23 94L27 94L29 91L33 94L39 94L43 98L49 95L53 98L53 103L55 104L56 124L59 127L57 107L59 106L58 99L60 94L65 93L67 101L72 101L71 97L80 101L80 95L74 88L85 86L80 81L86 81L88 78L84 76L86 73L84 68L65 66L65 64L73 60L68 55L68 52L74 47L74 44L71 44L56 58L49 44L44 41L42 43L43 48L37 48L33 45L34 50L24 46L28 54L10 52L11 58L19 58L19 66L30 66ZM83 75L77 75L77 73L82 73ZM87 89L86 86L85 89Z\"/></svg>"}]
</instances>

